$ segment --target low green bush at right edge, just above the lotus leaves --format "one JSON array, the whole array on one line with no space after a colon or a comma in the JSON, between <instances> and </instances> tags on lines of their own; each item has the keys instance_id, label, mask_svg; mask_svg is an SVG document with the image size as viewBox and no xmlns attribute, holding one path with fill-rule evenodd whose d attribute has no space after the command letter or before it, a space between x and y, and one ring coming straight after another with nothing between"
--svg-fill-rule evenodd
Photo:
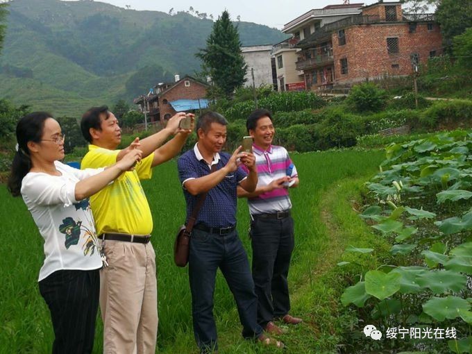
<instances>
[{"instance_id":1,"label":"low green bush at right edge, just above the lotus leaves","mask_svg":"<svg viewBox=\"0 0 472 354\"><path fill-rule=\"evenodd\" d=\"M472 101L436 101L423 111L420 123L428 128L470 127L472 124Z\"/></svg>"}]
</instances>

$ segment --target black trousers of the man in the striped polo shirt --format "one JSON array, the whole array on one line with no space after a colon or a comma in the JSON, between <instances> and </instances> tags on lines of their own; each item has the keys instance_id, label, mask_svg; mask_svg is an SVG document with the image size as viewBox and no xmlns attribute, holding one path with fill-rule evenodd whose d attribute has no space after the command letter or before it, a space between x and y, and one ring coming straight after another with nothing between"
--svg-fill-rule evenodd
<instances>
[{"instance_id":1,"label":"black trousers of the man in the striped polo shirt","mask_svg":"<svg viewBox=\"0 0 472 354\"><path fill-rule=\"evenodd\" d=\"M294 251L294 220L263 219L255 216L251 223L253 246L253 280L258 296L258 323L265 326L274 317L290 311L290 259Z\"/></svg>"}]
</instances>

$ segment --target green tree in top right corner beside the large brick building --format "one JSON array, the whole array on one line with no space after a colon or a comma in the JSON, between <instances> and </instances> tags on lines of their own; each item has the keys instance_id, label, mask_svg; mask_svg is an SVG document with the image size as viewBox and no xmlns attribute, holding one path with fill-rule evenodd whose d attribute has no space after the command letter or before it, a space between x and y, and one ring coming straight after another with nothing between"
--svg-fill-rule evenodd
<instances>
[{"instance_id":1,"label":"green tree in top right corner beside the large brick building","mask_svg":"<svg viewBox=\"0 0 472 354\"><path fill-rule=\"evenodd\" d=\"M452 43L453 37L464 33L472 24L472 1L443 0L437 7L437 22L446 45Z\"/></svg>"}]
</instances>

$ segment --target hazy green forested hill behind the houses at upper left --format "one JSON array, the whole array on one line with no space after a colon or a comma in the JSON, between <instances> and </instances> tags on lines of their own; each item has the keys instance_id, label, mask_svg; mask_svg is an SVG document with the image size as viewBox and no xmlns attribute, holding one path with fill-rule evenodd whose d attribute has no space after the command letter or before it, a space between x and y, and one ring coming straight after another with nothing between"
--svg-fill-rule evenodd
<instances>
[{"instance_id":1,"label":"hazy green forested hill behind the houses at upper left","mask_svg":"<svg viewBox=\"0 0 472 354\"><path fill-rule=\"evenodd\" d=\"M194 74L200 69L194 53L205 47L213 23L186 12L127 10L96 1L8 4L0 98L55 115L130 101L174 74ZM267 26L237 25L243 45L287 37Z\"/></svg>"}]
</instances>

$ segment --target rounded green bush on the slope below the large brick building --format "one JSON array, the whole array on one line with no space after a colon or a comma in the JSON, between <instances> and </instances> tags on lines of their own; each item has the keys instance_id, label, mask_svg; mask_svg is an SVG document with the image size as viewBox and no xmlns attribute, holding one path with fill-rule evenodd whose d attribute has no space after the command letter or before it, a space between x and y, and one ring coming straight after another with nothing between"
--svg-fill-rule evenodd
<instances>
[{"instance_id":1,"label":"rounded green bush on the slope below the large brick building","mask_svg":"<svg viewBox=\"0 0 472 354\"><path fill-rule=\"evenodd\" d=\"M362 83L351 89L347 103L357 112L378 112L387 103L387 93L373 83Z\"/></svg>"}]
</instances>

